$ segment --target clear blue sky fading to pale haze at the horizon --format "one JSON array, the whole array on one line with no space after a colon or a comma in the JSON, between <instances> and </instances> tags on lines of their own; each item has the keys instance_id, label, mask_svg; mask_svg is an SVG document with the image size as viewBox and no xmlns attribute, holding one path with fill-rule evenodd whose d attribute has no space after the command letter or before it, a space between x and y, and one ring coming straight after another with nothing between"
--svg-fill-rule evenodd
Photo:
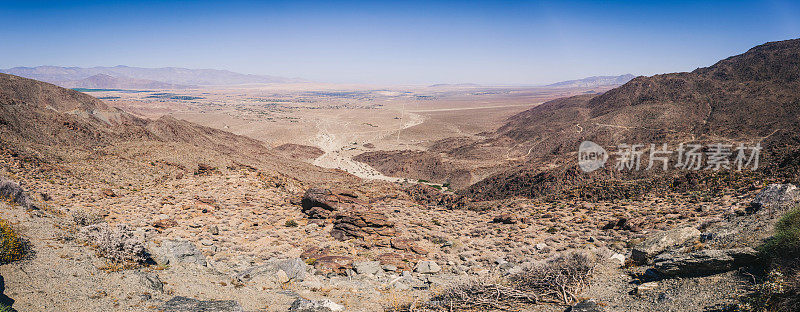
<instances>
[{"instance_id":1,"label":"clear blue sky fading to pale haze at the horizon","mask_svg":"<svg viewBox=\"0 0 800 312\"><path fill-rule=\"evenodd\" d=\"M800 37L797 1L66 2L0 0L0 68L540 84L688 71Z\"/></svg>"}]
</instances>

